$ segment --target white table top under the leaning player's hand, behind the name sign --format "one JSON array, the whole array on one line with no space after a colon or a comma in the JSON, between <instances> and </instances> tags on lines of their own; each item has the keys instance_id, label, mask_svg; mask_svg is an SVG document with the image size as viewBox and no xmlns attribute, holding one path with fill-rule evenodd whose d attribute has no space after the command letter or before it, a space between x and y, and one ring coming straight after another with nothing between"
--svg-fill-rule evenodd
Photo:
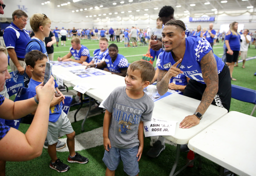
<instances>
[{"instance_id":1,"label":"white table top under the leaning player's hand, behind the name sign","mask_svg":"<svg viewBox=\"0 0 256 176\"><path fill-rule=\"evenodd\" d=\"M197 99L180 94L172 94L156 101L154 103L153 117L177 121L175 135L164 137L177 144L186 144L190 138L227 113L225 108L211 104L204 113L199 124L187 129L179 128L179 123L185 116L192 115L199 103L200 101Z\"/></svg>"}]
</instances>

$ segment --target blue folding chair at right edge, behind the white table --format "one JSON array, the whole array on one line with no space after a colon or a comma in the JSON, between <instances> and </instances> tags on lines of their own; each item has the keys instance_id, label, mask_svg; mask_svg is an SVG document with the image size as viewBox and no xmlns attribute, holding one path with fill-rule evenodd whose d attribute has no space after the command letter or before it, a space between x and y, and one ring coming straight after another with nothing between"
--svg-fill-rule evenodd
<instances>
[{"instance_id":1,"label":"blue folding chair at right edge, behind the white table","mask_svg":"<svg viewBox=\"0 0 256 176\"><path fill-rule=\"evenodd\" d=\"M231 97L244 102L255 104L250 115L253 114L256 108L256 90L231 84Z\"/></svg>"}]
</instances>

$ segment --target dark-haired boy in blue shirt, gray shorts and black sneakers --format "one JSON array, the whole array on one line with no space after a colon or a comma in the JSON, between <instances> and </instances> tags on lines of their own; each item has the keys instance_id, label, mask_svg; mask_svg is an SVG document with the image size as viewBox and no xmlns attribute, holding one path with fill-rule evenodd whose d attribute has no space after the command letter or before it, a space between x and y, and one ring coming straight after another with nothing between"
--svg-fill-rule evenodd
<instances>
[{"instance_id":1,"label":"dark-haired boy in blue shirt, gray shorts and black sneakers","mask_svg":"<svg viewBox=\"0 0 256 176\"><path fill-rule=\"evenodd\" d=\"M32 72L32 77L30 78L30 82L26 90L27 98L31 98L36 95L35 87L43 81L46 61L47 56L38 50L32 50L25 55L27 68ZM69 149L69 155L67 158L68 162L87 163L88 159L74 151L75 132L67 118L67 115L62 110L64 95L58 90L57 86L58 85L55 82L55 89L59 96L53 96L50 103L46 138L48 140L48 153L51 158L49 167L59 172L65 172L69 169L69 166L57 158L56 154L58 136L66 135L67 137L66 143Z\"/></svg>"}]
</instances>

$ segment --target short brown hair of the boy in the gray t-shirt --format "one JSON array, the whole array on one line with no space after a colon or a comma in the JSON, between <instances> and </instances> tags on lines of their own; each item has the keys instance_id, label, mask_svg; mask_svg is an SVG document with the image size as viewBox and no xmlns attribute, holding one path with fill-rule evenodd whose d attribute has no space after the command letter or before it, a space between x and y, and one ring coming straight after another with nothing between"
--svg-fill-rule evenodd
<instances>
[{"instance_id":1,"label":"short brown hair of the boy in the gray t-shirt","mask_svg":"<svg viewBox=\"0 0 256 176\"><path fill-rule=\"evenodd\" d=\"M134 70L140 70L140 76L142 81L149 81L151 82L153 77L154 77L154 67L151 63L144 61L144 60L136 60L133 61L130 65L129 68L131 71Z\"/></svg>"}]
</instances>

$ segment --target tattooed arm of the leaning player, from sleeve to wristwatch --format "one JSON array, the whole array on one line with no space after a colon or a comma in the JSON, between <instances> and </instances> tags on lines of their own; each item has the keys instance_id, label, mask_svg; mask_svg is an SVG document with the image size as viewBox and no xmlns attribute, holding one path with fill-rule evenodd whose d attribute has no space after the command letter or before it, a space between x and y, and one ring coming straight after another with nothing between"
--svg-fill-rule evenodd
<instances>
[{"instance_id":1,"label":"tattooed arm of the leaning player, from sleeve to wristwatch","mask_svg":"<svg viewBox=\"0 0 256 176\"><path fill-rule=\"evenodd\" d=\"M218 91L217 63L211 50L202 57L200 64L206 88L196 111L204 114Z\"/></svg>"}]
</instances>

